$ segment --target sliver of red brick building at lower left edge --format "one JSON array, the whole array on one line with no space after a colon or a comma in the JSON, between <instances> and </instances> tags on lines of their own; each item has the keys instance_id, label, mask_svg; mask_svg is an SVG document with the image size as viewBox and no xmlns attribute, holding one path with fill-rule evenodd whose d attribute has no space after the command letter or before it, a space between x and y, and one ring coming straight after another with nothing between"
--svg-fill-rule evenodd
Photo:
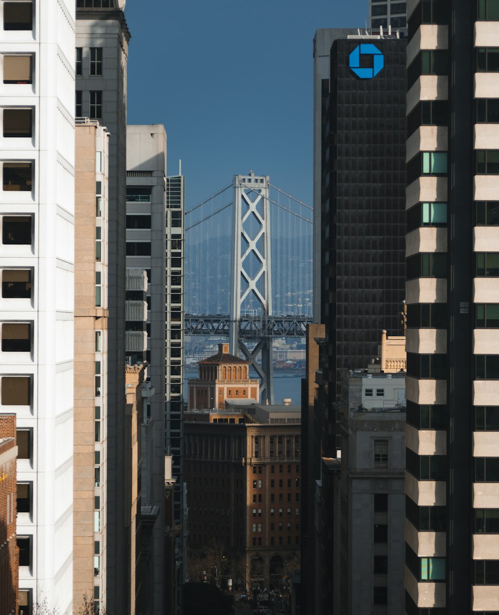
<instances>
[{"instance_id":1,"label":"sliver of red brick building at lower left edge","mask_svg":"<svg viewBox=\"0 0 499 615\"><path fill-rule=\"evenodd\" d=\"M15 415L0 415L0 613L17 615L17 445Z\"/></svg>"}]
</instances>

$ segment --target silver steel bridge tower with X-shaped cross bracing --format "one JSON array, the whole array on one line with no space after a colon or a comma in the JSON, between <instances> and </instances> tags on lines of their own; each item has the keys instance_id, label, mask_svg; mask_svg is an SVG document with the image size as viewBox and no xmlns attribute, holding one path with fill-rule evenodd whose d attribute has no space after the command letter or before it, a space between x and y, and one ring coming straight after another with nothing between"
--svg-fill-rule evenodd
<instances>
[{"instance_id":1,"label":"silver steel bridge tower with X-shaped cross bracing","mask_svg":"<svg viewBox=\"0 0 499 615\"><path fill-rule=\"evenodd\" d=\"M242 315L272 314L270 261L270 215L268 175L234 175L233 181L233 249L230 302L230 352L241 351L260 376L260 399L274 401L272 378L272 338L255 338L250 350L239 336ZM261 365L257 363L261 355Z\"/></svg>"}]
</instances>

